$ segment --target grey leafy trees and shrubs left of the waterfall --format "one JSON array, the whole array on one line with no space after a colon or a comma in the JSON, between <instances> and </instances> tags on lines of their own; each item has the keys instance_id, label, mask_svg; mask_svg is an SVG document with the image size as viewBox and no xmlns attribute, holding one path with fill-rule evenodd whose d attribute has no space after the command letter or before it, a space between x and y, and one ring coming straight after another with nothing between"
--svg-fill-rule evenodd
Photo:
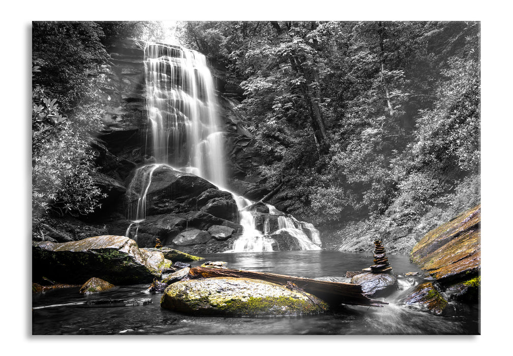
<instances>
[{"instance_id":1,"label":"grey leafy trees and shrubs left of the waterfall","mask_svg":"<svg viewBox=\"0 0 513 356\"><path fill-rule=\"evenodd\" d=\"M151 35L142 22L34 22L32 26L32 210L38 229L48 213L87 215L100 207L90 143L102 128L98 81L106 46Z\"/></svg>"}]
</instances>

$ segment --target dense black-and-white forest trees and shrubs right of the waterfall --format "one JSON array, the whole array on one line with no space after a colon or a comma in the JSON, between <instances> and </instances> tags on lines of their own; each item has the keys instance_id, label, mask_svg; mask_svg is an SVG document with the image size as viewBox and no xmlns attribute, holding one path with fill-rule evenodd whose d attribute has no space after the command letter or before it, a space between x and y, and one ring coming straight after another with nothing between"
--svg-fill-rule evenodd
<instances>
[{"instance_id":1,"label":"dense black-and-white forest trees and shrubs right of the waterfall","mask_svg":"<svg viewBox=\"0 0 513 356\"><path fill-rule=\"evenodd\" d=\"M480 28L464 22L187 22L228 69L289 212L347 221L479 202Z\"/></svg>"}]
</instances>

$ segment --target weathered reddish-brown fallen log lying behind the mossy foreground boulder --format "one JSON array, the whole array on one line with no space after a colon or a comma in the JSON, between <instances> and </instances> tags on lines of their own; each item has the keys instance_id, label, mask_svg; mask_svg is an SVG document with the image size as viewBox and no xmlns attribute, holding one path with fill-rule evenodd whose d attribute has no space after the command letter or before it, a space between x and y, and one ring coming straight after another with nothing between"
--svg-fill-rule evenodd
<instances>
[{"instance_id":1,"label":"weathered reddish-brown fallen log lying behind the mossy foreground boulder","mask_svg":"<svg viewBox=\"0 0 513 356\"><path fill-rule=\"evenodd\" d=\"M287 282L290 282L297 285L305 292L317 296L330 305L349 304L382 307L382 304L388 304L386 302L369 299L367 296L363 295L362 287L358 284L318 281L285 274L238 269L193 267L189 270L189 278L191 279L215 277L250 278L277 283L283 286L287 286Z\"/></svg>"}]
</instances>

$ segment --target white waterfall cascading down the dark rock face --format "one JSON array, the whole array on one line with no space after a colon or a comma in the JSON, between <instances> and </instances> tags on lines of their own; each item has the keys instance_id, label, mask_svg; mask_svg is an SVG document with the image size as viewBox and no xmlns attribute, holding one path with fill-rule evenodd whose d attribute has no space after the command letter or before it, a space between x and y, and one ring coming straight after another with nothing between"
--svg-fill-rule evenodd
<instances>
[{"instance_id":1,"label":"white waterfall cascading down the dark rock face","mask_svg":"<svg viewBox=\"0 0 513 356\"><path fill-rule=\"evenodd\" d=\"M167 166L193 173L233 195L243 233L227 252L273 251L276 236L295 239L301 250L321 249L319 231L299 222L272 205L267 212L253 211L253 202L229 191L223 157L223 132L216 115L212 76L203 54L185 48L149 44L145 48L148 112L147 152L154 163L136 170L133 182L141 191L129 206L128 219L137 239L139 224L146 219L146 195L156 168ZM131 184L131 185L132 185ZM131 187L129 187L131 190Z\"/></svg>"}]
</instances>

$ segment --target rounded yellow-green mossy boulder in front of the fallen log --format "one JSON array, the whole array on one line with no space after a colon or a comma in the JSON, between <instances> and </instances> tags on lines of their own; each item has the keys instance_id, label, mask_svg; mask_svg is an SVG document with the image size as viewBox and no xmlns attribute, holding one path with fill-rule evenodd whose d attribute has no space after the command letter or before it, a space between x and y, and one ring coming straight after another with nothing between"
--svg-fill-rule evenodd
<instances>
[{"instance_id":1,"label":"rounded yellow-green mossy boulder in front of the fallen log","mask_svg":"<svg viewBox=\"0 0 513 356\"><path fill-rule=\"evenodd\" d=\"M314 295L245 278L180 281L164 291L161 307L196 315L300 315L328 310Z\"/></svg>"}]
</instances>

